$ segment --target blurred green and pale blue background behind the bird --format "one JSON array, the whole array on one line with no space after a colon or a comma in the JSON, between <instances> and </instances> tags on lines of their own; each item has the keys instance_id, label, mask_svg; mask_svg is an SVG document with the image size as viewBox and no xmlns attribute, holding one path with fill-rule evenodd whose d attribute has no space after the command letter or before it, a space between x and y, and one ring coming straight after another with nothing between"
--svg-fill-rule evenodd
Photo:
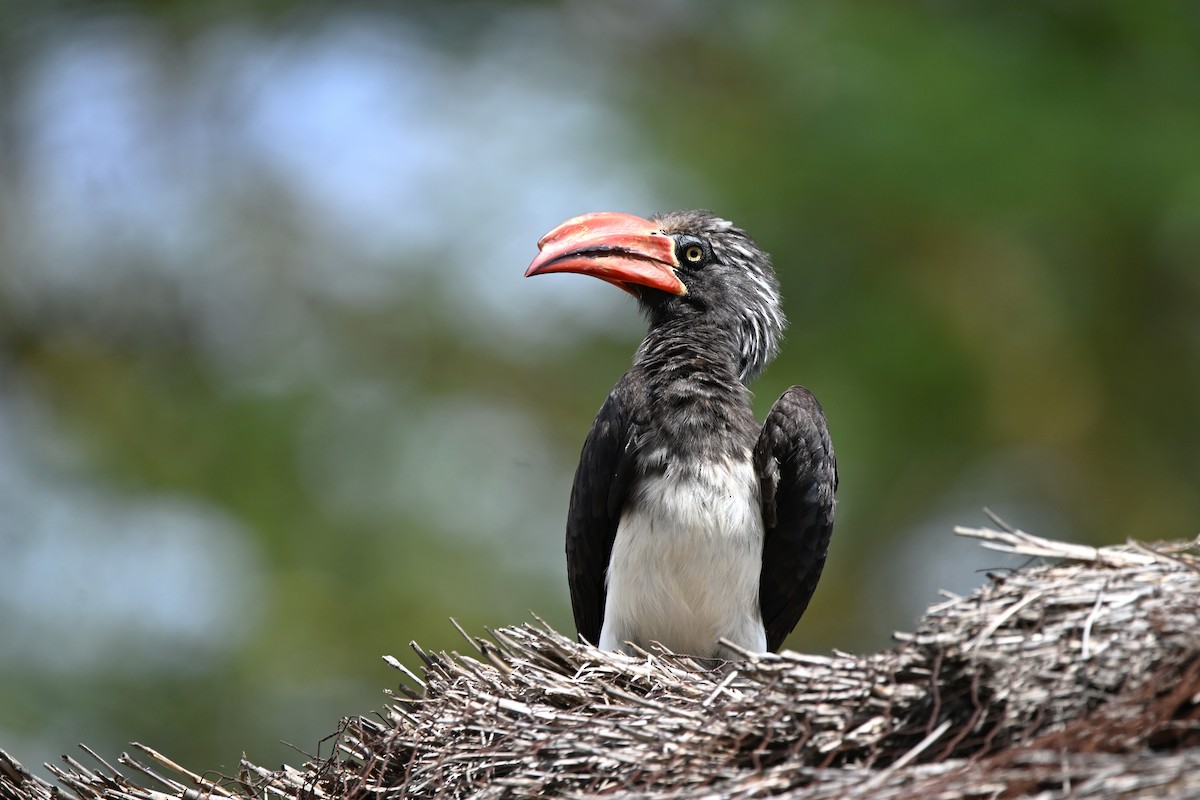
<instances>
[{"instance_id":1,"label":"blurred green and pale blue background behind the bird","mask_svg":"<svg viewBox=\"0 0 1200 800\"><path fill-rule=\"evenodd\" d=\"M1121 0L0 0L0 747L299 763L380 660L568 630L583 437L642 321L523 281L584 211L776 260L822 399L790 645L1200 529L1200 12ZM328 744L324 745L328 751Z\"/></svg>"}]
</instances>

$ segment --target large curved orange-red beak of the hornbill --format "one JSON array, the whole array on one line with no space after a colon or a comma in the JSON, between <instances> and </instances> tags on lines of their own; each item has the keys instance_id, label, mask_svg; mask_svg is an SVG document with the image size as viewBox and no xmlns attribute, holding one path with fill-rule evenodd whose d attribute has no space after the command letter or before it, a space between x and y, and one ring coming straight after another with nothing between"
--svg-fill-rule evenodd
<instances>
[{"instance_id":1,"label":"large curved orange-red beak of the hornbill","mask_svg":"<svg viewBox=\"0 0 1200 800\"><path fill-rule=\"evenodd\" d=\"M635 285L688 294L676 275L674 241L649 219L618 211L568 219L538 242L530 275L578 272L607 281L636 295Z\"/></svg>"}]
</instances>

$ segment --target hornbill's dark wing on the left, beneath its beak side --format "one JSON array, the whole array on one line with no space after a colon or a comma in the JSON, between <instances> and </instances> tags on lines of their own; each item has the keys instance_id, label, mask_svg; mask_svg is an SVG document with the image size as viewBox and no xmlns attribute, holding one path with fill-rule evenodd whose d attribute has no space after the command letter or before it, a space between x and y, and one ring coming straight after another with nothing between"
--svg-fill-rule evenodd
<instances>
[{"instance_id":1,"label":"hornbill's dark wing on the left, beneath its beak side","mask_svg":"<svg viewBox=\"0 0 1200 800\"><path fill-rule=\"evenodd\" d=\"M575 627L600 643L605 576L617 525L634 479L634 380L630 375L608 395L592 425L571 488L566 517L566 579L571 585Z\"/></svg>"}]
</instances>

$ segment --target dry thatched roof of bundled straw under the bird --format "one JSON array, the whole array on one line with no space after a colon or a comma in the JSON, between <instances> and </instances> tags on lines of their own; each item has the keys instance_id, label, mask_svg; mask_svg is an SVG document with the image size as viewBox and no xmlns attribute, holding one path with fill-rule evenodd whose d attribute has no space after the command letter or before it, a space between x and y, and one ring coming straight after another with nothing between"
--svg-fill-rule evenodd
<instances>
[{"instance_id":1,"label":"dry thatched roof of bundled straw under the bird","mask_svg":"<svg viewBox=\"0 0 1200 800\"><path fill-rule=\"evenodd\" d=\"M929 609L868 656L752 656L734 672L628 657L539 626L426 654L377 717L301 768L188 772L150 748L50 782L0 753L0 800L212 795L1200 798L1196 542L1092 548L962 530L1039 561ZM414 645L415 646L415 645ZM61 795L59 795L61 796Z\"/></svg>"}]
</instances>

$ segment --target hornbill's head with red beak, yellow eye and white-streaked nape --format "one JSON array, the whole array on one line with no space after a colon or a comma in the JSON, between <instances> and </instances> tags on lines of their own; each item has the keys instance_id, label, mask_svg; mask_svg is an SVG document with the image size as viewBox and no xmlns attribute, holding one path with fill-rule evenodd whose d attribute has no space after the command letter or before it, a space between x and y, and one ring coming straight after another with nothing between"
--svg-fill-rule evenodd
<instances>
[{"instance_id":1,"label":"hornbill's head with red beak, yellow eye and white-streaked nape","mask_svg":"<svg viewBox=\"0 0 1200 800\"><path fill-rule=\"evenodd\" d=\"M743 383L775 356L787 321L770 258L708 211L642 219L604 211L568 219L538 242L526 277L592 275L637 297L653 330L696 324L731 337Z\"/></svg>"}]
</instances>

